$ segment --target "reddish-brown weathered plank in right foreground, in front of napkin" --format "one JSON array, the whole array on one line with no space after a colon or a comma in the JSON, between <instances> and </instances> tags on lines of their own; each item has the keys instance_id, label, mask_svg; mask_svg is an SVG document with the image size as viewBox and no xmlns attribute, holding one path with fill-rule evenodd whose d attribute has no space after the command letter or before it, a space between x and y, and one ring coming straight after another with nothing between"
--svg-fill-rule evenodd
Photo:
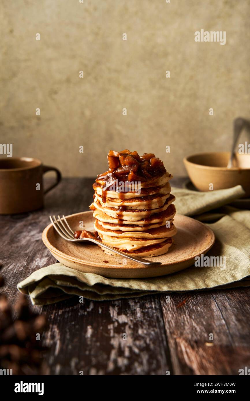
<instances>
[{"instance_id":1,"label":"reddish-brown weathered plank in right foreground, in front of napkin","mask_svg":"<svg viewBox=\"0 0 250 401\"><path fill-rule=\"evenodd\" d=\"M232 293L235 298L229 302L227 294ZM248 288L169 294L170 302L161 296L175 375L236 375L249 366L249 294Z\"/></svg>"}]
</instances>

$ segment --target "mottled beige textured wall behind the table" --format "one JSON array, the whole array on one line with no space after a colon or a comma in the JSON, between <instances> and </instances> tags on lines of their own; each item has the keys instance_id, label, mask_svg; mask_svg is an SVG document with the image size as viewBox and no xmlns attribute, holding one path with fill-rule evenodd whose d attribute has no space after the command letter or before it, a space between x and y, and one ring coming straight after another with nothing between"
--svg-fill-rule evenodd
<instances>
[{"instance_id":1,"label":"mottled beige textured wall behind the table","mask_svg":"<svg viewBox=\"0 0 250 401\"><path fill-rule=\"evenodd\" d=\"M249 0L1 0L0 8L0 143L13 143L13 156L93 176L106 170L109 149L129 148L185 174L183 156L229 150L232 119L250 115ZM201 28L226 31L226 45L196 43Z\"/></svg>"}]
</instances>

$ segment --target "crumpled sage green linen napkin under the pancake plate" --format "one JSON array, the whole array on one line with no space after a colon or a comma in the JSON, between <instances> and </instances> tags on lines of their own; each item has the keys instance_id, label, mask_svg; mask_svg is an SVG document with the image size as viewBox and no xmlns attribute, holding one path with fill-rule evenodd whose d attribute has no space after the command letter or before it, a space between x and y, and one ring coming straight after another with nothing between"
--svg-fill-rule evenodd
<instances>
[{"instance_id":1,"label":"crumpled sage green linen napkin under the pancake plate","mask_svg":"<svg viewBox=\"0 0 250 401\"><path fill-rule=\"evenodd\" d=\"M207 256L226 257L226 268L195 267L145 279L112 279L82 273L62 263L43 267L18 284L35 305L59 302L72 296L90 300L113 300L162 292L207 290L250 286L250 211L228 204L244 195L241 186L195 192L172 188L178 213L195 217L215 233L215 244ZM208 223L209 222L209 223Z\"/></svg>"}]
</instances>

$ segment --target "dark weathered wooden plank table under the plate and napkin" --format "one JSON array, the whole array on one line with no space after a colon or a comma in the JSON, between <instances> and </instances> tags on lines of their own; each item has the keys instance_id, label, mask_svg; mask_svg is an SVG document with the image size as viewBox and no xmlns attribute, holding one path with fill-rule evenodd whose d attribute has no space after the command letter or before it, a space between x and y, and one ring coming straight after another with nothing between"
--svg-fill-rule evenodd
<instances>
[{"instance_id":1,"label":"dark weathered wooden plank table under the plate and napkin","mask_svg":"<svg viewBox=\"0 0 250 401\"><path fill-rule=\"evenodd\" d=\"M3 290L11 302L19 281L55 263L41 240L48 216L87 210L92 183L66 178L46 195L45 209L0 216ZM182 183L179 178L171 185ZM33 306L49 322L42 340L51 375L238 375L250 367L250 288L169 295L169 303L163 294Z\"/></svg>"}]
</instances>

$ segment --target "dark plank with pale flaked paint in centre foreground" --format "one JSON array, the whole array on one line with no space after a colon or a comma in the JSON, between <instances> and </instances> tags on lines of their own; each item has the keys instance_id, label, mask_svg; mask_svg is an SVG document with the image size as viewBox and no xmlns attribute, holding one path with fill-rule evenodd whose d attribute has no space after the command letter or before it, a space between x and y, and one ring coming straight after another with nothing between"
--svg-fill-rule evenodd
<instances>
[{"instance_id":1,"label":"dark plank with pale flaked paint in centre foreground","mask_svg":"<svg viewBox=\"0 0 250 401\"><path fill-rule=\"evenodd\" d=\"M53 375L164 375L171 370L158 296L84 304L74 298L43 310Z\"/></svg>"}]
</instances>

